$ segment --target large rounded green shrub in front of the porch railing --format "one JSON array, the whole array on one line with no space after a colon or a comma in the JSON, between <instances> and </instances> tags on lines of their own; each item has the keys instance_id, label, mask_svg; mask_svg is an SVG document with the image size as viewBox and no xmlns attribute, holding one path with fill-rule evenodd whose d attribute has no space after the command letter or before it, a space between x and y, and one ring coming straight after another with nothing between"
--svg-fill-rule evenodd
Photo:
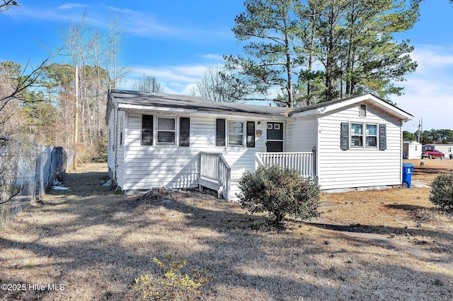
<instances>
[{"instance_id":1,"label":"large rounded green shrub in front of the porch railing","mask_svg":"<svg viewBox=\"0 0 453 301\"><path fill-rule=\"evenodd\" d=\"M242 208L252 214L272 213L277 223L286 214L302 219L319 216L319 186L314 179L304 179L297 170L262 165L254 173L243 174L239 189Z\"/></svg>"}]
</instances>

